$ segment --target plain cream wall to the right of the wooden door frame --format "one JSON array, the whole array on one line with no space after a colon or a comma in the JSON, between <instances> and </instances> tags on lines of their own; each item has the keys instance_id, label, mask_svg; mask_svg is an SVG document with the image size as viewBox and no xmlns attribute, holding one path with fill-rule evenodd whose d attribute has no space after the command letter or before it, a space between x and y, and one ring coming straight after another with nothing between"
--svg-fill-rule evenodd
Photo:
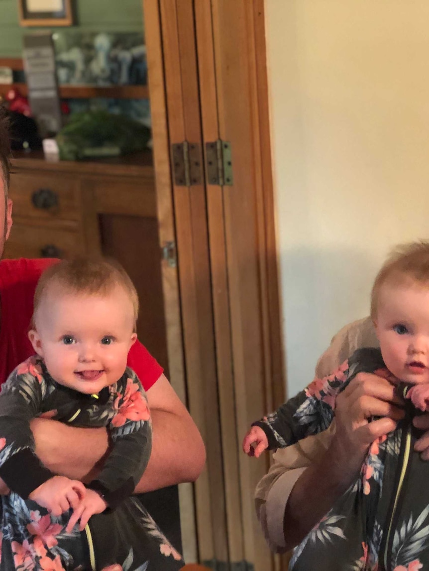
<instances>
[{"instance_id":1,"label":"plain cream wall to the right of the wooden door frame","mask_svg":"<svg viewBox=\"0 0 429 571\"><path fill-rule=\"evenodd\" d=\"M265 0L288 391L429 238L429 2Z\"/></svg>"}]
</instances>

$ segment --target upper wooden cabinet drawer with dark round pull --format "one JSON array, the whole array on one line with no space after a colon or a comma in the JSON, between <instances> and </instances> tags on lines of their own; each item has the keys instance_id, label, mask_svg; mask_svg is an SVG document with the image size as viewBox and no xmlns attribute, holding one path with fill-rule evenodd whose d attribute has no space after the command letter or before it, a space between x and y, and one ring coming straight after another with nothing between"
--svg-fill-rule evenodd
<instances>
[{"instance_id":1,"label":"upper wooden cabinet drawer with dark round pull","mask_svg":"<svg viewBox=\"0 0 429 571\"><path fill-rule=\"evenodd\" d=\"M67 176L23 174L10 177L14 216L80 219L79 182Z\"/></svg>"}]
</instances>

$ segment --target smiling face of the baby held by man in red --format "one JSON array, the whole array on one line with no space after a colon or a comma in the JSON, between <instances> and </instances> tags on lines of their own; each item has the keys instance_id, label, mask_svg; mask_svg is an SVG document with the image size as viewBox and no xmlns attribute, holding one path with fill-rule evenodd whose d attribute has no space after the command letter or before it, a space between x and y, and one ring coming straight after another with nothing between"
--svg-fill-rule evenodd
<instances>
[{"instance_id":1,"label":"smiling face of the baby held by man in red","mask_svg":"<svg viewBox=\"0 0 429 571\"><path fill-rule=\"evenodd\" d=\"M29 336L57 383L92 395L124 374L133 326L132 302L120 286L103 296L51 288Z\"/></svg>"}]
</instances>

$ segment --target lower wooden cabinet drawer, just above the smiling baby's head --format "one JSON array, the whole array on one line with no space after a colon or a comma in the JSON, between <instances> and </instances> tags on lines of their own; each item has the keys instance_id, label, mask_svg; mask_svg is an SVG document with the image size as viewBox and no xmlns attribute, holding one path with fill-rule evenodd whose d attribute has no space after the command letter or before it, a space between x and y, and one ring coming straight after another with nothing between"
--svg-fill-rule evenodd
<instances>
[{"instance_id":1,"label":"lower wooden cabinet drawer, just above the smiling baby's head","mask_svg":"<svg viewBox=\"0 0 429 571\"><path fill-rule=\"evenodd\" d=\"M69 258L85 254L81 232L32 224L14 224L5 258Z\"/></svg>"}]
</instances>

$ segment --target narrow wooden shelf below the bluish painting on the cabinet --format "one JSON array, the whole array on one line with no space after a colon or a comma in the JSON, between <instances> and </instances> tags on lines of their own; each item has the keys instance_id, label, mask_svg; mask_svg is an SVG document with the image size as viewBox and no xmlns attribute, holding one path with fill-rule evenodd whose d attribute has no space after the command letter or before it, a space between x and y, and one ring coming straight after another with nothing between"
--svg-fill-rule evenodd
<instances>
[{"instance_id":1,"label":"narrow wooden shelf below the bluish painting on the cabinet","mask_svg":"<svg viewBox=\"0 0 429 571\"><path fill-rule=\"evenodd\" d=\"M27 96L26 83L13 83L0 85L0 96L5 96L10 89L17 89L21 95ZM111 87L98 87L86 85L60 85L61 99L92 99L105 97L113 99L149 99L149 90L146 85L114 85Z\"/></svg>"}]
</instances>

